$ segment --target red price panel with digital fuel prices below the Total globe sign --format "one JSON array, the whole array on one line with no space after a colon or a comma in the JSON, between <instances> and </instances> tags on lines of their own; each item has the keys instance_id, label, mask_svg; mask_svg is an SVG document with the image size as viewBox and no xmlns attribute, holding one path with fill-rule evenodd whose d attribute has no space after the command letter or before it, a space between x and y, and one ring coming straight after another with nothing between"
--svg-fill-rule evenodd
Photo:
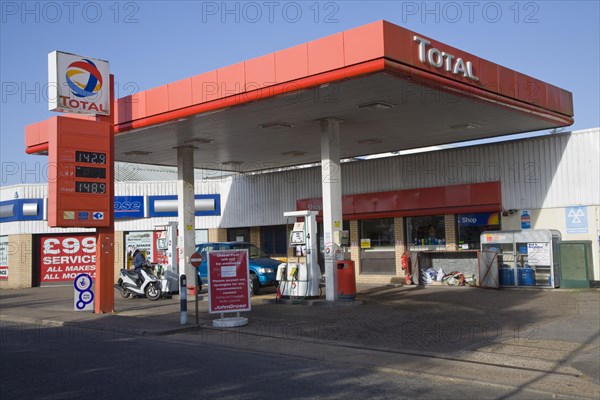
<instances>
[{"instance_id":1,"label":"red price panel with digital fuel prices below the Total globe sign","mask_svg":"<svg viewBox=\"0 0 600 400\"><path fill-rule=\"evenodd\" d=\"M105 227L114 209L110 124L55 117L48 124L48 225Z\"/></svg>"}]
</instances>

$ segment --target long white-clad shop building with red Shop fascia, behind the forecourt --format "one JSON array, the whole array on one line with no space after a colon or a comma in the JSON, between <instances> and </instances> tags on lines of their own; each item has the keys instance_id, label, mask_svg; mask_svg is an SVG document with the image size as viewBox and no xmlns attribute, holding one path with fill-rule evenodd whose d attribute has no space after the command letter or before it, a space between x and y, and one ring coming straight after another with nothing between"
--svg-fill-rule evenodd
<instances>
[{"instance_id":1,"label":"long white-clad shop building with red Shop fascia, behind the forecourt","mask_svg":"<svg viewBox=\"0 0 600 400\"><path fill-rule=\"evenodd\" d=\"M562 240L591 241L594 280L600 280L599 155L595 128L347 160L343 229L350 233L346 254L356 263L357 282L402 280L405 251L469 252L479 249L481 232L500 229L555 229ZM159 175L134 174L132 164L120 168L136 179ZM177 189L176 172L160 175L166 180L116 183L116 271L133 247L164 262L156 241L176 220ZM198 173L196 242L249 241L274 257L291 256L283 213L320 210L321 179L318 166ZM46 185L4 187L1 196L0 287L56 284L69 273L92 272L91 231L48 228Z\"/></svg>"}]
</instances>

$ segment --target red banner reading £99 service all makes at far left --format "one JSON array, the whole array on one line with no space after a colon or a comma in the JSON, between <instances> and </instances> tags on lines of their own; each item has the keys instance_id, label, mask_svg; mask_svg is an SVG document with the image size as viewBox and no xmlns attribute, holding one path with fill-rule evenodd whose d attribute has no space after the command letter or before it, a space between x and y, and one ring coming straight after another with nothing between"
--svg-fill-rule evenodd
<instances>
[{"instance_id":1,"label":"red banner reading \u00a399 service all makes at far left","mask_svg":"<svg viewBox=\"0 0 600 400\"><path fill-rule=\"evenodd\" d=\"M73 284L75 277L81 273L96 278L95 236L42 235L38 240L41 284Z\"/></svg>"}]
</instances>

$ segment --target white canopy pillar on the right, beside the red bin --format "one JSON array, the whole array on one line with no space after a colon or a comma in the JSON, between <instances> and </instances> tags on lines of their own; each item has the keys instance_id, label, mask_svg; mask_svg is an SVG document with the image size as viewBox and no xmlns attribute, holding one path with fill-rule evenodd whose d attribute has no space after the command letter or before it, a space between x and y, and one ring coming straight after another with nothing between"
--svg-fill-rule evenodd
<instances>
[{"instance_id":1,"label":"white canopy pillar on the right, beside the red bin","mask_svg":"<svg viewBox=\"0 0 600 400\"><path fill-rule=\"evenodd\" d=\"M340 166L340 120L321 120L321 180L323 185L323 234L325 282L328 301L337 300L336 254L339 243L334 231L342 230L342 169Z\"/></svg>"}]
</instances>

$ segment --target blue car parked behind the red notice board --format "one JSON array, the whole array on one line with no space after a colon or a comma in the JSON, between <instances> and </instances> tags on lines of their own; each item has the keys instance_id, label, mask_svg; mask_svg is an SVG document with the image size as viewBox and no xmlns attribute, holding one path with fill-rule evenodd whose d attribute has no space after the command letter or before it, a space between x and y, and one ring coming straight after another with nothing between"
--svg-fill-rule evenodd
<instances>
[{"instance_id":1,"label":"blue car parked behind the red notice board","mask_svg":"<svg viewBox=\"0 0 600 400\"><path fill-rule=\"evenodd\" d=\"M207 260L208 252L213 250L248 250L248 268L250 272L250 290L252 294L258 294L261 287L273 286L277 282L277 266L280 261L269 258L261 249L246 242L218 242L202 243L196 245L196 251L202 255L202 264L198 268L198 278L203 285L208 284Z\"/></svg>"}]
</instances>

